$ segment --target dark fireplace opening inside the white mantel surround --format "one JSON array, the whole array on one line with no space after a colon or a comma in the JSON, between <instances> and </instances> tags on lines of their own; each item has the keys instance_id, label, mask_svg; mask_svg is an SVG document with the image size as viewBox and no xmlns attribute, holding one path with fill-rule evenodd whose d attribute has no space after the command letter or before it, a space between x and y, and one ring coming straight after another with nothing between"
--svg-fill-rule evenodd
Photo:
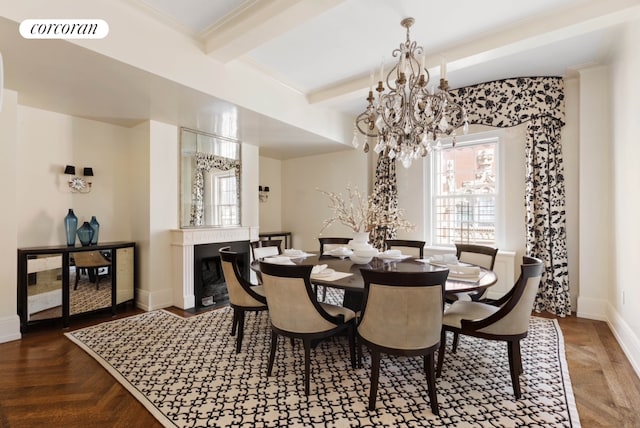
<instances>
[{"instance_id":1,"label":"dark fireplace opening inside the white mantel surround","mask_svg":"<svg viewBox=\"0 0 640 428\"><path fill-rule=\"evenodd\" d=\"M229 303L229 293L222 274L220 248L230 247L240 255L242 276L249 278L249 241L200 244L193 247L193 291L195 309L222 307Z\"/></svg>"}]
</instances>

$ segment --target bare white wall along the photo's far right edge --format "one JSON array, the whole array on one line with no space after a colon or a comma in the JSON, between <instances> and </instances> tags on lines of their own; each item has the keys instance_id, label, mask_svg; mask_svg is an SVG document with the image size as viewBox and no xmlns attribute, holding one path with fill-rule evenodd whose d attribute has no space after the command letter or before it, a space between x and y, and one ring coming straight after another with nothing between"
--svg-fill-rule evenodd
<instances>
[{"instance_id":1,"label":"bare white wall along the photo's far right edge","mask_svg":"<svg viewBox=\"0 0 640 428\"><path fill-rule=\"evenodd\" d=\"M635 263L640 259L640 21L627 24L618 44L610 75L612 82L611 177L613 207L609 231L613 232L610 277L605 286L607 318L614 334L640 376L640 283ZM602 204L602 202L600 202ZM594 225L595 226L595 225ZM600 225L601 227L601 225ZM598 247L596 247L598 248ZM594 249L592 248L591 251ZM595 251L601 254L601 252ZM602 284L600 284L602 286ZM624 293L624 299L623 299Z\"/></svg>"}]
</instances>

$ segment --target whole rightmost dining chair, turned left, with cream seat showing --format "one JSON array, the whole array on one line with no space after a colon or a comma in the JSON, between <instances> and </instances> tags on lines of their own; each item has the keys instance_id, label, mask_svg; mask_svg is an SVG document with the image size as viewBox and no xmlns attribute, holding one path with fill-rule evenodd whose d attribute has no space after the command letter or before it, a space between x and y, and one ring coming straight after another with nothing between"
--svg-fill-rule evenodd
<instances>
[{"instance_id":1,"label":"whole rightmost dining chair, turned left, with cream seat showing","mask_svg":"<svg viewBox=\"0 0 640 428\"><path fill-rule=\"evenodd\" d=\"M502 298L489 303L458 300L445 311L438 351L438 376L442 373L447 331L507 343L511 383L516 399L521 397L523 373L520 340L527 337L529 318L544 265L542 260L523 257L520 278ZM452 352L456 352L454 349ZM473 370L473 368L469 368Z\"/></svg>"}]
</instances>

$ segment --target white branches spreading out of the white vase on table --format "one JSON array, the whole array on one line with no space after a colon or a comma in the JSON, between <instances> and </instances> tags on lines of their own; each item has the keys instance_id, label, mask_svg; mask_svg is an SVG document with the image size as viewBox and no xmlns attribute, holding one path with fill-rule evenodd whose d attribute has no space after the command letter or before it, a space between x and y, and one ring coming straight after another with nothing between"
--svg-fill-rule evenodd
<instances>
[{"instance_id":1,"label":"white branches spreading out of the white vase on table","mask_svg":"<svg viewBox=\"0 0 640 428\"><path fill-rule=\"evenodd\" d=\"M316 189L329 197L329 208L333 215L322 223L320 233L333 223L341 223L354 232L371 232L376 227L395 227L399 230L413 230L415 225L404 218L404 210L383 209L376 205L373 195L365 198L358 188L347 186L345 198L340 193Z\"/></svg>"}]
</instances>

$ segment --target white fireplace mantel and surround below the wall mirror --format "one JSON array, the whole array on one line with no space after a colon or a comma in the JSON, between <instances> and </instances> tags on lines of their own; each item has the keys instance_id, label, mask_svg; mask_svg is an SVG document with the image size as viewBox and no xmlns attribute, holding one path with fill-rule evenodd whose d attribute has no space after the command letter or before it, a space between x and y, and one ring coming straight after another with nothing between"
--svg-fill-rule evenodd
<instances>
[{"instance_id":1,"label":"white fireplace mantel and surround below the wall mirror","mask_svg":"<svg viewBox=\"0 0 640 428\"><path fill-rule=\"evenodd\" d=\"M246 250L239 251L246 253L246 271L249 277L249 241L258 239L257 227L220 227L220 228L192 228L174 229L171 231L171 251L173 263L173 304L181 309L192 309L201 307L202 297L196 302L196 271L202 268L202 257L218 256L218 249L231 243L244 243ZM206 244L217 244L211 250L204 250L205 256L199 256L200 261L196 264L196 248ZM239 247L236 247L239 248ZM200 250L198 250L200 251ZM214 259L215 260L215 259ZM198 266L198 268L196 268ZM205 269L207 268L205 263ZM209 263L210 269L216 266ZM205 271L206 272L206 271ZM207 272L208 274L211 271ZM202 278L198 278L201 283ZM198 293L200 293L198 291ZM206 296L205 296L206 297ZM214 299L215 300L215 299Z\"/></svg>"}]
</instances>

